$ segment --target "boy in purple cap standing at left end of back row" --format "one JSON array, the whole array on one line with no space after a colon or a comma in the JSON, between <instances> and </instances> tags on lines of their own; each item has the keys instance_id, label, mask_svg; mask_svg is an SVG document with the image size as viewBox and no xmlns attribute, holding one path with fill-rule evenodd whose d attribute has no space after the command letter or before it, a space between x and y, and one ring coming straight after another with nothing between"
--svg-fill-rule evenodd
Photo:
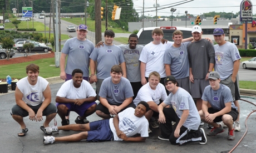
<instances>
[{"instance_id":1,"label":"boy in purple cap standing at left end of back row","mask_svg":"<svg viewBox=\"0 0 256 153\"><path fill-rule=\"evenodd\" d=\"M76 30L77 37L68 39L64 44L61 50L61 59L60 59L60 77L62 80L71 80L72 71L74 69L81 69L83 72L83 79L88 81L89 78L89 63L90 55L94 49L93 43L86 39L87 35L87 26L80 24ZM68 55L68 56L67 56ZM67 64L65 68L65 61L67 57ZM63 122L64 123L64 122ZM69 120L67 120L63 125L68 125Z\"/></svg>"}]
</instances>

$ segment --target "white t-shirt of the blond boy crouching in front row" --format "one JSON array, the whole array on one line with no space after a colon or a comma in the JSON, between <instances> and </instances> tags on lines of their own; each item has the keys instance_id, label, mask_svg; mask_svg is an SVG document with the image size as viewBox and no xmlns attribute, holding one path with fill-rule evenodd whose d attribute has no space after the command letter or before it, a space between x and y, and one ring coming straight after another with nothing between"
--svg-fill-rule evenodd
<instances>
[{"instance_id":1,"label":"white t-shirt of the blond boy crouching in front row","mask_svg":"<svg viewBox=\"0 0 256 153\"><path fill-rule=\"evenodd\" d=\"M160 103L160 99L164 101L166 98L167 94L163 84L159 83L156 86L156 89L153 90L150 88L149 83L147 83L140 88L136 98L134 99L134 104L137 106L140 101L154 101L158 105Z\"/></svg>"}]
</instances>

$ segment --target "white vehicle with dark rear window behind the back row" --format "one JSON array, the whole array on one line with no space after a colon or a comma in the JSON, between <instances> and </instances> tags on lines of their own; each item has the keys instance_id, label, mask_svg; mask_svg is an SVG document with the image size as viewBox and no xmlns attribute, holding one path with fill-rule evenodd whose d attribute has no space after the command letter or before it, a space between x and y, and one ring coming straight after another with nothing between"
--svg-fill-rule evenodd
<instances>
[{"instance_id":1,"label":"white vehicle with dark rear window behind the back row","mask_svg":"<svg viewBox=\"0 0 256 153\"><path fill-rule=\"evenodd\" d=\"M173 32L175 30L181 30L183 32L183 38L192 37L191 28L183 28L183 27L148 27L148 28L141 28L137 33L139 38L138 45L146 45L153 41L152 38L152 30L155 28L160 28L164 32L164 39L173 42Z\"/></svg>"}]
</instances>

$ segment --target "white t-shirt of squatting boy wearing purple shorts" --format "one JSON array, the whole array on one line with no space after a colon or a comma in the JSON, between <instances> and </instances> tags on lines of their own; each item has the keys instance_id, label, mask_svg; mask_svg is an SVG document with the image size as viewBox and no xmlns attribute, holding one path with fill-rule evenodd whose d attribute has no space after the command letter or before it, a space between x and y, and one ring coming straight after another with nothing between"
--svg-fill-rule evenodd
<instances>
[{"instance_id":1,"label":"white t-shirt of squatting boy wearing purple shorts","mask_svg":"<svg viewBox=\"0 0 256 153\"><path fill-rule=\"evenodd\" d=\"M90 83L83 80L79 88L75 88L73 85L73 80L68 80L62 84L61 88L58 90L56 96L60 96L67 99L82 99L88 98L90 96L96 96Z\"/></svg>"}]
</instances>

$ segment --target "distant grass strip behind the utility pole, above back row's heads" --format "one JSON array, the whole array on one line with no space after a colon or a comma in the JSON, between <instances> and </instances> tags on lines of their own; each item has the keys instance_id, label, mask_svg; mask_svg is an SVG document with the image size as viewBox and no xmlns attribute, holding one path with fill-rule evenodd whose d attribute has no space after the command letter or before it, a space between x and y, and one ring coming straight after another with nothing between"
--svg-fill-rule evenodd
<instances>
[{"instance_id":1,"label":"distant grass strip behind the utility pole, above back row's heads","mask_svg":"<svg viewBox=\"0 0 256 153\"><path fill-rule=\"evenodd\" d=\"M81 18L61 18L61 19L64 21L76 24L76 27L79 24L85 24L85 18L83 18L83 20ZM88 30L95 32L95 21L92 21L90 18L87 18L86 24L87 24ZM107 29L109 30L111 29L115 33L131 33L131 32L123 31L122 29L115 29L110 27L108 27ZM101 32L105 32L105 22L101 22Z\"/></svg>"}]
</instances>

